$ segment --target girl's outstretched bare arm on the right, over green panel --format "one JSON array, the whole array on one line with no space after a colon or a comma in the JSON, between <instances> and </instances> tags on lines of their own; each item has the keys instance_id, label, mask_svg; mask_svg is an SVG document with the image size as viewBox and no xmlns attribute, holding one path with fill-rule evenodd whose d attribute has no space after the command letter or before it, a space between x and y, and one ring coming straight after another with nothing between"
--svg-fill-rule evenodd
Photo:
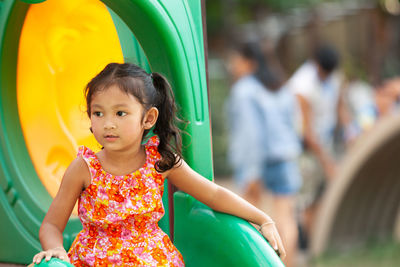
<instances>
[{"instance_id":1,"label":"girl's outstretched bare arm on the right, over green panel","mask_svg":"<svg viewBox=\"0 0 400 267\"><path fill-rule=\"evenodd\" d=\"M285 257L281 238L272 219L249 202L204 178L182 160L175 168L164 173L169 181L180 190L193 196L213 210L235 215L261 227L263 236L275 250L279 250L282 258Z\"/></svg>"}]
</instances>

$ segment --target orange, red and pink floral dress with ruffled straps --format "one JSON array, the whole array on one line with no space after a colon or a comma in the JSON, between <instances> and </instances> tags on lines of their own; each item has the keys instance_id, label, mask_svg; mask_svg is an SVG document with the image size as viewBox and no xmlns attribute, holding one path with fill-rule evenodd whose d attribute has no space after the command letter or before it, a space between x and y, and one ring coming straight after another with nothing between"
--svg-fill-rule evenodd
<instances>
[{"instance_id":1,"label":"orange, red and pink floral dress with ruffled straps","mask_svg":"<svg viewBox=\"0 0 400 267\"><path fill-rule=\"evenodd\" d=\"M160 159L156 136L145 144L146 163L123 176L105 172L87 147L80 147L91 184L81 193L78 214L83 230L68 252L75 266L184 266L158 221L164 215L163 176L154 168Z\"/></svg>"}]
</instances>

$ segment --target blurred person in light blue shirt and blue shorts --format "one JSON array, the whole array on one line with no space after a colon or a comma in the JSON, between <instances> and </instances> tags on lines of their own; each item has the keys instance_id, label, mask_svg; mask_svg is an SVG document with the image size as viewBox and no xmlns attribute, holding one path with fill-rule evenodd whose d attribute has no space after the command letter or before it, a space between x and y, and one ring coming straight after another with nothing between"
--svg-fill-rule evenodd
<instances>
[{"instance_id":1,"label":"blurred person in light blue shirt and blue shorts","mask_svg":"<svg viewBox=\"0 0 400 267\"><path fill-rule=\"evenodd\" d=\"M263 193L272 195L273 215L287 251L286 266L294 266L297 251L295 195L302 179L301 153L295 129L296 99L264 58L257 43L241 44L229 53L234 80L227 101L228 157L242 195L260 207Z\"/></svg>"}]
</instances>

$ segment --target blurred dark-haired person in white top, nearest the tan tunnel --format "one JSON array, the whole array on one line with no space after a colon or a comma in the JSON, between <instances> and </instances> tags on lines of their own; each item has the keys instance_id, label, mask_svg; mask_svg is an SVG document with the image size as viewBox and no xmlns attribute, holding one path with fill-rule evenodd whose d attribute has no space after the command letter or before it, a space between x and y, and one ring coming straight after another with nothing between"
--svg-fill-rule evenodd
<instances>
[{"instance_id":1,"label":"blurred dark-haired person in white top, nearest the tan tunnel","mask_svg":"<svg viewBox=\"0 0 400 267\"><path fill-rule=\"evenodd\" d=\"M312 59L307 60L288 80L286 86L297 96L302 114L303 142L306 151L302 164L305 180L304 190L309 199L303 203L304 213L301 229L305 231L305 242L312 229L319 200L327 181L331 181L337 170L334 150L335 130L346 125L349 115L343 101L343 79L337 67L338 52L324 45L316 49ZM305 168L303 168L305 167ZM302 190L303 191L303 190ZM303 243L305 246L306 244Z\"/></svg>"}]
</instances>

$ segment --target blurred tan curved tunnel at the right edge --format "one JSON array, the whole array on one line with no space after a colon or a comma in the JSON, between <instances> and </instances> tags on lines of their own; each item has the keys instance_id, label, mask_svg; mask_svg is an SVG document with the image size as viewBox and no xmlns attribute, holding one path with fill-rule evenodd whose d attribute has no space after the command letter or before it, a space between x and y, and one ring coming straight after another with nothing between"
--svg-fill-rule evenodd
<instances>
[{"instance_id":1,"label":"blurred tan curved tunnel at the right edge","mask_svg":"<svg viewBox=\"0 0 400 267\"><path fill-rule=\"evenodd\" d=\"M311 239L314 255L327 249L347 250L368 240L396 238L399 156L398 115L383 118L357 141L322 201Z\"/></svg>"}]
</instances>

